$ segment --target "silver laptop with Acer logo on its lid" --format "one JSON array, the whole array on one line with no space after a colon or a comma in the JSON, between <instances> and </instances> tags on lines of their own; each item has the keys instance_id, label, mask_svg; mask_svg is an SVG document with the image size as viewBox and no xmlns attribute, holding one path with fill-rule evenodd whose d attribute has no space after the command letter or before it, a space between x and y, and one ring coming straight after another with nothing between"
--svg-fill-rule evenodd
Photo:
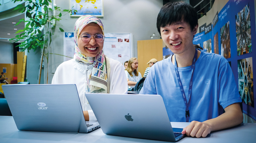
<instances>
[{"instance_id":1,"label":"silver laptop with Acer logo on its lid","mask_svg":"<svg viewBox=\"0 0 256 143\"><path fill-rule=\"evenodd\" d=\"M99 128L86 121L76 85L4 85L6 101L19 130L87 133Z\"/></svg>"}]
</instances>

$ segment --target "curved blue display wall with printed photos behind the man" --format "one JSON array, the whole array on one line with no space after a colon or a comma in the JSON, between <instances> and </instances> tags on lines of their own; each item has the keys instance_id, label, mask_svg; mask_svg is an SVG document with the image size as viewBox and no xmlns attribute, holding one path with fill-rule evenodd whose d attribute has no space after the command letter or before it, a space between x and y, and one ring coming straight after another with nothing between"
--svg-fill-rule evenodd
<instances>
[{"instance_id":1,"label":"curved blue display wall with printed photos behind the man","mask_svg":"<svg viewBox=\"0 0 256 143\"><path fill-rule=\"evenodd\" d=\"M195 35L193 43L203 45L205 52L220 54L227 59L243 102L243 113L256 121L256 96L253 92L256 41L252 40L256 39L254 0L222 3L215 0L212 9L204 16L208 23L199 23L200 32Z\"/></svg>"}]
</instances>

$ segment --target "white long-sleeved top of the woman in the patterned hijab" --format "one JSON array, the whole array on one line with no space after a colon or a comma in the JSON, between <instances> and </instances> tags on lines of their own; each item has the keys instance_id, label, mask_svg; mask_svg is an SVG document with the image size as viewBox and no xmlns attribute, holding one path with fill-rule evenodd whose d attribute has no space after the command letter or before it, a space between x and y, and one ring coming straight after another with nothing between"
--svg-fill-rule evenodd
<instances>
[{"instance_id":1,"label":"white long-sleeved top of the woman in the patterned hijab","mask_svg":"<svg viewBox=\"0 0 256 143\"><path fill-rule=\"evenodd\" d=\"M128 84L125 77L124 66L117 60L109 58L110 61L110 89L109 93L127 94ZM62 62L56 69L52 78L52 84L75 84L83 111L88 111L89 121L97 121L91 106L85 97L85 86L87 85L88 73L93 65L83 65L71 59Z\"/></svg>"}]
</instances>

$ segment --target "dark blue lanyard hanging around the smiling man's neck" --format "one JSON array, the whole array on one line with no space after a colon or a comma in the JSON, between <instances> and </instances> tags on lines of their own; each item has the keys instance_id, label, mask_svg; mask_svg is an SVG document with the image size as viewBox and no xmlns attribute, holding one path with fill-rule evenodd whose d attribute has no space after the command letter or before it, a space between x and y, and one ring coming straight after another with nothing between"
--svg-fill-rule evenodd
<instances>
[{"instance_id":1,"label":"dark blue lanyard hanging around the smiling man's neck","mask_svg":"<svg viewBox=\"0 0 256 143\"><path fill-rule=\"evenodd\" d=\"M195 55L194 55L194 58L193 58L193 61L192 61L191 79L190 79L189 88L188 88L188 101L191 97L191 92L192 92L192 81L193 81L194 68L195 68L195 64L196 64L196 60L197 60L197 52L198 51L196 49L196 52L195 52ZM175 55L174 55L174 58L175 58ZM181 83L181 78L179 77L179 71L178 71L178 68L177 68L176 58L175 58L175 72L176 72L176 76L177 76L177 79L178 79L178 82L179 82L179 89L181 90L181 95L183 97L183 100L184 100L184 103L185 103L185 106L186 106L185 117L186 117L186 122L188 122L189 121L188 101L187 101L187 98L186 98L186 95L185 95L185 91L183 89L183 85Z\"/></svg>"}]
</instances>

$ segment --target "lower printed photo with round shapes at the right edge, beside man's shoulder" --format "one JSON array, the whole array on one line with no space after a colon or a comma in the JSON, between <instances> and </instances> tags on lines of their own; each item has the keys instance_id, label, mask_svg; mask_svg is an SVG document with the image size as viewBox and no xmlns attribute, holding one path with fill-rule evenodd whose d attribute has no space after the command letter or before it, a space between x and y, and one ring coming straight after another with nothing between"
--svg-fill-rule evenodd
<instances>
[{"instance_id":1,"label":"lower printed photo with round shapes at the right edge, beside man's shoulder","mask_svg":"<svg viewBox=\"0 0 256 143\"><path fill-rule=\"evenodd\" d=\"M252 57L237 60L238 90L243 103L254 107Z\"/></svg>"}]
</instances>

